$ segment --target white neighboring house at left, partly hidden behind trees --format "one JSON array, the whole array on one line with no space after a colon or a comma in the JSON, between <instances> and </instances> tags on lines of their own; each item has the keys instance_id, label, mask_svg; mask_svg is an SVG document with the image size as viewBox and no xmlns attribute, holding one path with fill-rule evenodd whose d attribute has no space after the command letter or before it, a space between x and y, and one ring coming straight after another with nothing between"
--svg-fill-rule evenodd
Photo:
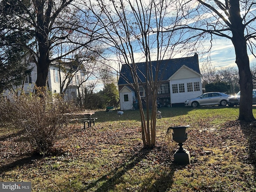
<instances>
[{"instance_id":1,"label":"white neighboring house at left, partly hidden behind trees","mask_svg":"<svg viewBox=\"0 0 256 192\"><path fill-rule=\"evenodd\" d=\"M26 76L24 82L22 82L20 86L14 88L18 91L18 93L24 91L25 94L28 94L34 91L34 86L37 79L36 64L34 62L30 62L30 68L32 68L32 71L30 74ZM79 85L84 80L84 74L81 70L76 70L76 72L72 74L73 78L71 79L69 85L66 87L66 84L64 84L63 88L66 88L66 90L60 90L61 83L64 82L64 79L67 76L67 73L64 72L63 69L69 70L67 67L64 68L63 65L60 67L57 62L55 64L50 65L47 81L48 90L53 94L65 92L64 98L66 100L73 100L78 97L78 88L80 89L80 93L82 92L82 86ZM4 95L7 94L10 94L9 90L6 90L4 92Z\"/></svg>"}]
</instances>

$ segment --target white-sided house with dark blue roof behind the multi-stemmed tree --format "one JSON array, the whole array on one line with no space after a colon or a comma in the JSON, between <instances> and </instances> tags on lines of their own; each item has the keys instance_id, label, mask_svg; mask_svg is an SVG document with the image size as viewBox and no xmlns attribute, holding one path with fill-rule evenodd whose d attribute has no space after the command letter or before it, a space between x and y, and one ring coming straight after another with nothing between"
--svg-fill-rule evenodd
<instances>
[{"instance_id":1,"label":"white-sided house with dark blue roof behind the multi-stemmed tree","mask_svg":"<svg viewBox=\"0 0 256 192\"><path fill-rule=\"evenodd\" d=\"M152 62L152 65L156 64ZM145 62L136 63L138 75L143 83ZM153 67L154 68L154 67ZM156 72L153 72L155 75ZM141 77L140 77L141 74ZM200 74L198 54L192 57L175 58L161 61L161 69L158 71L161 85L158 90L158 105L172 106L184 104L186 99L194 98L202 94L202 75ZM120 71L118 89L121 110L136 108L136 92L129 84L133 83L130 68L124 64ZM143 86L140 86L140 96L145 97Z\"/></svg>"}]
</instances>

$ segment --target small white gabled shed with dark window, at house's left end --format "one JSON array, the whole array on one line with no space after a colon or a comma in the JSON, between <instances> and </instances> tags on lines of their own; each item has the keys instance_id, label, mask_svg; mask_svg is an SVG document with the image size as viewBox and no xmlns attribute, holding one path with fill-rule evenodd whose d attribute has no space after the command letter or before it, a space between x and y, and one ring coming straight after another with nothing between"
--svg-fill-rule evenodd
<instances>
[{"instance_id":1,"label":"small white gabled shed with dark window, at house's left end","mask_svg":"<svg viewBox=\"0 0 256 192\"><path fill-rule=\"evenodd\" d=\"M132 110L133 101L135 99L135 92L129 86L124 86L120 90L119 96L120 96L120 109Z\"/></svg>"}]
</instances>

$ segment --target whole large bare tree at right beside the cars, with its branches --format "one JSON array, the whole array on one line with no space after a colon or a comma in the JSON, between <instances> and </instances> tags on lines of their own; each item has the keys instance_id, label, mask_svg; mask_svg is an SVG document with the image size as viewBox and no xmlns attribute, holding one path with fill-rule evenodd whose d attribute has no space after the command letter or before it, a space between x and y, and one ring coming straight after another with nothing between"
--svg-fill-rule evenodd
<instances>
[{"instance_id":1,"label":"whole large bare tree at right beside the cars, with its branches","mask_svg":"<svg viewBox=\"0 0 256 192\"><path fill-rule=\"evenodd\" d=\"M188 0L180 1L180 16L189 38L231 40L240 76L240 112L238 120L255 121L252 114L252 74L248 50L256 48L256 2L254 0ZM177 28L178 29L178 28ZM255 56L255 55L254 55Z\"/></svg>"}]
</instances>

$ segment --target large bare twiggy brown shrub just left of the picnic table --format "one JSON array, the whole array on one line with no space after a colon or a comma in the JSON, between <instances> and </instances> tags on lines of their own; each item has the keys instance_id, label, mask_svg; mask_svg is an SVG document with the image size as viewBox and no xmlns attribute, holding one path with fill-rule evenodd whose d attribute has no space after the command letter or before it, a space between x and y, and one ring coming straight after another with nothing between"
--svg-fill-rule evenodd
<instances>
[{"instance_id":1,"label":"large bare twiggy brown shrub just left of the picnic table","mask_svg":"<svg viewBox=\"0 0 256 192\"><path fill-rule=\"evenodd\" d=\"M26 136L34 152L42 155L55 151L54 142L66 121L65 116L61 115L66 110L66 104L51 101L51 96L22 94L12 98L5 105L8 109L5 116L8 116L16 127L26 130ZM3 110L0 114L4 114Z\"/></svg>"}]
</instances>

